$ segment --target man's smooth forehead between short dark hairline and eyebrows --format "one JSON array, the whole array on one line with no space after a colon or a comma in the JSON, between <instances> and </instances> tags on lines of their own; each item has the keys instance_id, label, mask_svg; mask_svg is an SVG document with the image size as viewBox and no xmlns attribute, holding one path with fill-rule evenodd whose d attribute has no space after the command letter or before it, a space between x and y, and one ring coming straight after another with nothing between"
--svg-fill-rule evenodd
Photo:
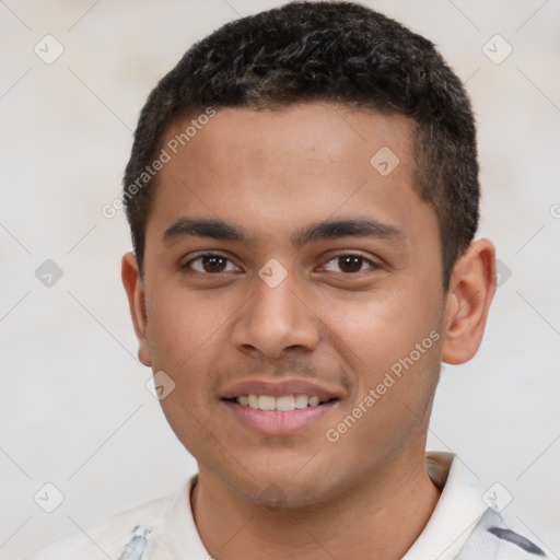
<instances>
[{"instance_id":1,"label":"man's smooth forehead between short dark hairline and eyebrows","mask_svg":"<svg viewBox=\"0 0 560 560\"><path fill-rule=\"evenodd\" d=\"M402 230L415 208L433 213L412 189L406 117L331 103L203 114L175 121L163 140L170 161L148 223L156 222L159 236L186 214L293 238L294 229L337 213Z\"/></svg>"}]
</instances>

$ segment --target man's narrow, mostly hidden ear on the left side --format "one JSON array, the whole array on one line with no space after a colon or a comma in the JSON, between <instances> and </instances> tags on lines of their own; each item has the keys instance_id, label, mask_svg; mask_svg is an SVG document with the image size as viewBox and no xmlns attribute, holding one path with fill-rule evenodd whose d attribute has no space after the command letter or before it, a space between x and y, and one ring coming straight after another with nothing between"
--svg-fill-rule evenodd
<instances>
[{"instance_id":1,"label":"man's narrow, mostly hidden ear on the left side","mask_svg":"<svg viewBox=\"0 0 560 560\"><path fill-rule=\"evenodd\" d=\"M148 314L145 311L144 287L133 253L127 253L122 257L121 277L128 296L128 305L135 325L135 332L139 342L138 359L144 365L151 366L152 357L147 338Z\"/></svg>"}]
</instances>

